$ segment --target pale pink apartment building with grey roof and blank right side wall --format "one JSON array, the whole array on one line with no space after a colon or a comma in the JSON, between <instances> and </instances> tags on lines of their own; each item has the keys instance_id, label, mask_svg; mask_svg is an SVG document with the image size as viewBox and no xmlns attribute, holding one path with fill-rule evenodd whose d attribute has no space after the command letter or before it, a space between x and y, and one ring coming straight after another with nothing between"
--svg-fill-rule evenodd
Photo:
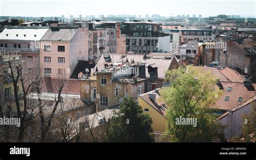
<instances>
[{"instance_id":1,"label":"pale pink apartment building with grey roof and blank right side wall","mask_svg":"<svg viewBox=\"0 0 256 160\"><path fill-rule=\"evenodd\" d=\"M41 39L39 64L46 76L70 78L79 60L88 60L86 28L51 27Z\"/></svg>"}]
</instances>

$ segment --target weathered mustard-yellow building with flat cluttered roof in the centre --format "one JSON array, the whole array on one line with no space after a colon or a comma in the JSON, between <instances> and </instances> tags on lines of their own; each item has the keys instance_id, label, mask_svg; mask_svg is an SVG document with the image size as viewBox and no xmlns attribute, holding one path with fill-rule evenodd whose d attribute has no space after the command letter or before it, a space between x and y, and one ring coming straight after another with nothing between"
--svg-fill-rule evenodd
<instances>
[{"instance_id":1,"label":"weathered mustard-yellow building with flat cluttered roof in the centre","mask_svg":"<svg viewBox=\"0 0 256 160\"><path fill-rule=\"evenodd\" d=\"M94 102L97 110L114 107L122 103L124 97L138 99L138 95L145 92L145 64L114 63L79 81L80 96L85 103Z\"/></svg>"}]
</instances>

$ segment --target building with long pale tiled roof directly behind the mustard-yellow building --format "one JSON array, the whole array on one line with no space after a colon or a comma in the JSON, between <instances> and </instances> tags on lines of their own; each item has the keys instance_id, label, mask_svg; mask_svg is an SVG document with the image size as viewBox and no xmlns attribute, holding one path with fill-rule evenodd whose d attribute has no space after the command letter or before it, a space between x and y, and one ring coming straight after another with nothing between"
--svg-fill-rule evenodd
<instances>
[{"instance_id":1,"label":"building with long pale tiled roof directly behind the mustard-yellow building","mask_svg":"<svg viewBox=\"0 0 256 160\"><path fill-rule=\"evenodd\" d=\"M164 81L166 71L177 69L179 63L175 56L166 53L150 53L148 55L143 54L108 54L101 56L96 67L92 69L92 73L95 73L105 67L111 67L115 63L145 63L146 66L146 83L145 92L160 88L167 84Z\"/></svg>"}]
</instances>

